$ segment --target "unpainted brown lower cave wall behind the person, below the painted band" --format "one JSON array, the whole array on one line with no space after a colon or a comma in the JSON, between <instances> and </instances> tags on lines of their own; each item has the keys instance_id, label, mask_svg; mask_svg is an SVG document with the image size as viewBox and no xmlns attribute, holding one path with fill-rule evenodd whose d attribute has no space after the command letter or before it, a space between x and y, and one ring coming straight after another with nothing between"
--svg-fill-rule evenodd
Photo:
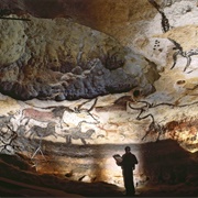
<instances>
[{"instance_id":1,"label":"unpainted brown lower cave wall behind the person, below the painted band","mask_svg":"<svg viewBox=\"0 0 198 198\"><path fill-rule=\"evenodd\" d=\"M43 141L42 151L47 161L37 153L40 157L36 155L35 162L37 161L37 165L45 173L48 170L63 174L63 169L67 169L65 176L70 179L84 182L89 176L89 182L108 180L106 173L111 173L113 168L112 155L116 153L122 155L127 145L131 146L139 158L135 170L135 183L139 186L147 183L173 185L186 183L198 172L196 153L185 151L174 140L105 145L68 145Z\"/></svg>"}]
</instances>

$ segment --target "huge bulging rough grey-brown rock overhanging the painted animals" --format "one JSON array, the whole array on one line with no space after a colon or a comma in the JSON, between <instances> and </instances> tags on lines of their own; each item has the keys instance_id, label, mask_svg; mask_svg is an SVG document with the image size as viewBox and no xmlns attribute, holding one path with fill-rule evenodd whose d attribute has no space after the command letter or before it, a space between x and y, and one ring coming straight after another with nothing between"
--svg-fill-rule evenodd
<instances>
[{"instance_id":1,"label":"huge bulging rough grey-brown rock overhanging the painted animals","mask_svg":"<svg viewBox=\"0 0 198 198\"><path fill-rule=\"evenodd\" d=\"M62 101L139 86L140 74L131 61L135 54L113 37L66 19L28 19L1 20L3 94L21 100Z\"/></svg>"}]
</instances>

